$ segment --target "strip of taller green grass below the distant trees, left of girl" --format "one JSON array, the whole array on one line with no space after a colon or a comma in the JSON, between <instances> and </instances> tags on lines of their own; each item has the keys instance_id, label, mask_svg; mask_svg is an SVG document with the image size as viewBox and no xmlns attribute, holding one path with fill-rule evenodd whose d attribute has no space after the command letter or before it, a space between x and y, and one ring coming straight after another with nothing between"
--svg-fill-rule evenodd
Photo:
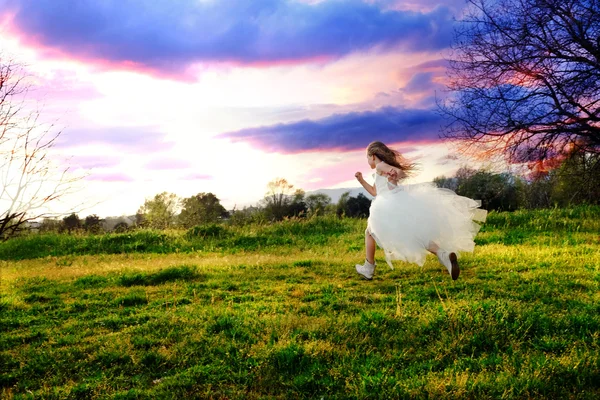
<instances>
[{"instance_id":1,"label":"strip of taller green grass below the distant trees, left of girl","mask_svg":"<svg viewBox=\"0 0 600 400\"><path fill-rule=\"evenodd\" d=\"M46 256L127 254L197 251L259 251L278 246L327 244L344 233L356 232L357 222L336 217L245 227L208 225L187 232L138 230L102 235L44 234L15 238L0 246L0 260L24 260Z\"/></svg>"}]
</instances>

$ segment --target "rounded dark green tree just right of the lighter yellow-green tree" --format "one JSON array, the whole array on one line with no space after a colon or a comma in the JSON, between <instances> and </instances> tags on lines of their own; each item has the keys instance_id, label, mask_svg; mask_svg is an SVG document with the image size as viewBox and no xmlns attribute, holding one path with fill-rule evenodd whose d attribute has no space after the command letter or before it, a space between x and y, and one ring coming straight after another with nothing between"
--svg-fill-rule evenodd
<instances>
[{"instance_id":1,"label":"rounded dark green tree just right of the lighter yellow-green tree","mask_svg":"<svg viewBox=\"0 0 600 400\"><path fill-rule=\"evenodd\" d=\"M227 210L212 193L198 193L195 196L181 200L179 223L185 228L211 222L227 216Z\"/></svg>"}]
</instances>

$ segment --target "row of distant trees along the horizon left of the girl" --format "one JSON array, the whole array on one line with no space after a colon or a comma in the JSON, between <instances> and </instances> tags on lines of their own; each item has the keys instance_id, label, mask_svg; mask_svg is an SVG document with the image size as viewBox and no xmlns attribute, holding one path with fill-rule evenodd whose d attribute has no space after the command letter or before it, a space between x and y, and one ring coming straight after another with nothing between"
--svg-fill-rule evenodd
<instances>
[{"instance_id":1,"label":"row of distant trees along the horizon left of the girl","mask_svg":"<svg viewBox=\"0 0 600 400\"><path fill-rule=\"evenodd\" d=\"M202 192L187 198L179 198L174 193L158 193L144 201L135 214L133 224L121 222L116 224L112 231L123 232L131 228L189 229L224 221L234 225L245 225L321 215L360 218L369 215L371 200L360 193L354 197L350 196L350 192L346 192L337 203L332 203L328 195L306 195L302 189L295 189L284 178L269 182L267 189L264 198L256 205L229 211L214 193ZM72 213L61 220L44 219L39 230L101 233L107 230L102 222L95 214L82 219L76 213Z\"/></svg>"}]
</instances>

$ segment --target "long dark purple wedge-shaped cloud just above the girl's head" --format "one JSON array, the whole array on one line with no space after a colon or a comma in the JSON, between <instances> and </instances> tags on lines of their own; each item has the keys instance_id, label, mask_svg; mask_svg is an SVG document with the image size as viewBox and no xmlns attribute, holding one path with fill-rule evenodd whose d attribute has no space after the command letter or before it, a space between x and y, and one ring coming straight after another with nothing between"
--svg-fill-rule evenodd
<instances>
[{"instance_id":1,"label":"long dark purple wedge-shaped cloud just above the girl's head","mask_svg":"<svg viewBox=\"0 0 600 400\"><path fill-rule=\"evenodd\" d=\"M301 153L320 150L357 150L373 140L385 143L427 143L439 140L442 118L433 110L384 107L376 111L334 114L226 132L218 138L248 142L265 151Z\"/></svg>"}]
</instances>

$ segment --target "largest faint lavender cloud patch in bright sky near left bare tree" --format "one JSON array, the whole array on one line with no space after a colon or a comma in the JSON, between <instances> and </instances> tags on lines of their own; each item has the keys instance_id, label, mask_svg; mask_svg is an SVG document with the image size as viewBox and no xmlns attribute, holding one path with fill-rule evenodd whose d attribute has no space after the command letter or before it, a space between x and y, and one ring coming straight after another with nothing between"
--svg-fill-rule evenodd
<instances>
[{"instance_id":1,"label":"largest faint lavender cloud patch in bright sky near left bare tree","mask_svg":"<svg viewBox=\"0 0 600 400\"><path fill-rule=\"evenodd\" d=\"M155 152L168 149L173 143L165 142L165 134L154 128L71 128L63 132L57 148L104 144L123 152Z\"/></svg>"}]
</instances>

